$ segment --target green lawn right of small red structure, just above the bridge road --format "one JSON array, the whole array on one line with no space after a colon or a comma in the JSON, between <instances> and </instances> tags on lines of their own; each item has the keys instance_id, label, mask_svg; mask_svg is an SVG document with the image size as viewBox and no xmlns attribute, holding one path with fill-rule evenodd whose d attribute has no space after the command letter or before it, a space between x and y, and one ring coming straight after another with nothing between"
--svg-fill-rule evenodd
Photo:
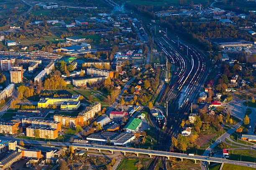
<instances>
[{"instance_id":1,"label":"green lawn right of small red structure, just above the bridge road","mask_svg":"<svg viewBox=\"0 0 256 170\"><path fill-rule=\"evenodd\" d=\"M230 151L230 160L238 160L242 158L242 161L255 162L256 161L256 151L255 150L234 150L233 154Z\"/></svg>"}]
</instances>

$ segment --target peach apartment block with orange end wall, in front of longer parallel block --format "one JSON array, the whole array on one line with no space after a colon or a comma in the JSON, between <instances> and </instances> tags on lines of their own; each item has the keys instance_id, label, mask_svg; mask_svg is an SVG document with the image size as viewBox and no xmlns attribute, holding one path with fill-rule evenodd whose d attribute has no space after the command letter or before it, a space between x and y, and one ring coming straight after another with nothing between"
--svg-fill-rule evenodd
<instances>
[{"instance_id":1,"label":"peach apartment block with orange end wall, in front of longer parallel block","mask_svg":"<svg viewBox=\"0 0 256 170\"><path fill-rule=\"evenodd\" d=\"M56 139L58 137L58 130L53 128L44 128L40 126L29 126L26 128L26 136L35 137L35 130L39 130L39 138Z\"/></svg>"}]
</instances>

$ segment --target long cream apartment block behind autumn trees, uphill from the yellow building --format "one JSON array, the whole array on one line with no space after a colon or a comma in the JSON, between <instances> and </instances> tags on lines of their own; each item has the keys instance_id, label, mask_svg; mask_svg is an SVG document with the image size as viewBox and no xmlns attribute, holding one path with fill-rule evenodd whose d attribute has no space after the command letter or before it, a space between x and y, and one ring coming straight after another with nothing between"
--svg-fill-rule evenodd
<instances>
[{"instance_id":1,"label":"long cream apartment block behind autumn trees, uphill from the yellow building","mask_svg":"<svg viewBox=\"0 0 256 170\"><path fill-rule=\"evenodd\" d=\"M80 77L80 78L74 78L72 80L72 84L76 87L81 87L87 85L87 83L100 83L103 80L105 80L105 76L95 76L95 77Z\"/></svg>"}]
</instances>

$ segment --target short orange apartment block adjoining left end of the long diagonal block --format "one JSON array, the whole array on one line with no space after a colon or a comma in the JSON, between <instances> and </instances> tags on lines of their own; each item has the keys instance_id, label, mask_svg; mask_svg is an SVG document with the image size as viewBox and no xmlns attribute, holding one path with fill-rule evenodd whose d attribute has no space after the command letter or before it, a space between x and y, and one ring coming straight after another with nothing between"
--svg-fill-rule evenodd
<instances>
[{"instance_id":1,"label":"short orange apartment block adjoining left end of the long diagonal block","mask_svg":"<svg viewBox=\"0 0 256 170\"><path fill-rule=\"evenodd\" d=\"M67 126L70 128L75 128L78 125L79 118L77 116L68 116L68 115L54 115L54 120L56 122L61 122L61 125Z\"/></svg>"}]
</instances>

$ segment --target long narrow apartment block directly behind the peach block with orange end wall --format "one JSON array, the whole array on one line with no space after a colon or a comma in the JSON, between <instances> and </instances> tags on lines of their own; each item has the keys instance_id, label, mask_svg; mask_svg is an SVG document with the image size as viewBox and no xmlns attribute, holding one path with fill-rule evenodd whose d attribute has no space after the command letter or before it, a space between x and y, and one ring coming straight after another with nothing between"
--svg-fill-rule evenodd
<instances>
[{"instance_id":1,"label":"long narrow apartment block directly behind the peach block with orange end wall","mask_svg":"<svg viewBox=\"0 0 256 170\"><path fill-rule=\"evenodd\" d=\"M57 129L58 131L61 130L61 122L31 118L23 118L21 121L23 127L39 126L44 128Z\"/></svg>"}]
</instances>

